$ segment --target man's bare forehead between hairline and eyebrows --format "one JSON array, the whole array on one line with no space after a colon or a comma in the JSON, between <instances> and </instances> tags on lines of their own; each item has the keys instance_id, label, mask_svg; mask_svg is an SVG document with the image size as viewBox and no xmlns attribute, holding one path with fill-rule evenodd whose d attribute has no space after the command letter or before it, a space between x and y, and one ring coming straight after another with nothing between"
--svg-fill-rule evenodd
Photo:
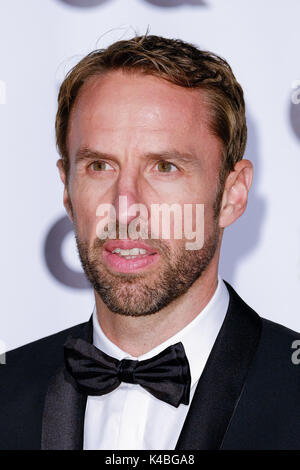
<instances>
[{"instance_id":1,"label":"man's bare forehead between hairline and eyebrows","mask_svg":"<svg viewBox=\"0 0 300 470\"><path fill-rule=\"evenodd\" d=\"M81 87L69 121L70 155L77 147L97 146L109 139L142 145L160 139L162 145L193 146L216 140L209 130L205 91L177 86L142 73L113 71L93 76Z\"/></svg>"}]
</instances>

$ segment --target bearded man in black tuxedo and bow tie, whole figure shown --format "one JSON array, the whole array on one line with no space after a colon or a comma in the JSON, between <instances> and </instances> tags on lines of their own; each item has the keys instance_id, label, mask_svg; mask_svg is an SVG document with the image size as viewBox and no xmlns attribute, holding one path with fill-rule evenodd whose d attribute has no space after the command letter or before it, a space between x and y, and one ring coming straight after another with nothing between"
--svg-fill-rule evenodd
<instances>
[{"instance_id":1,"label":"bearded man in black tuxedo and bow tie, whole figure shown","mask_svg":"<svg viewBox=\"0 0 300 470\"><path fill-rule=\"evenodd\" d=\"M218 277L251 186L246 132L227 62L180 40L120 41L68 74L57 165L95 309L8 353L2 449L300 448L299 334Z\"/></svg>"}]
</instances>

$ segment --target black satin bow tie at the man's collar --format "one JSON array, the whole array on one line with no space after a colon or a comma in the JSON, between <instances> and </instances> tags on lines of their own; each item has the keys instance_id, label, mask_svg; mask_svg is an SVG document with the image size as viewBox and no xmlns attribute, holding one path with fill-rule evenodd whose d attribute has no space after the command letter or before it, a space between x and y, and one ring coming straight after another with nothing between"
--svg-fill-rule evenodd
<instances>
[{"instance_id":1,"label":"black satin bow tie at the man's collar","mask_svg":"<svg viewBox=\"0 0 300 470\"><path fill-rule=\"evenodd\" d=\"M68 339L64 350L67 370L87 395L104 395L127 382L176 408L189 404L191 374L182 343L145 361L118 361L80 338Z\"/></svg>"}]
</instances>

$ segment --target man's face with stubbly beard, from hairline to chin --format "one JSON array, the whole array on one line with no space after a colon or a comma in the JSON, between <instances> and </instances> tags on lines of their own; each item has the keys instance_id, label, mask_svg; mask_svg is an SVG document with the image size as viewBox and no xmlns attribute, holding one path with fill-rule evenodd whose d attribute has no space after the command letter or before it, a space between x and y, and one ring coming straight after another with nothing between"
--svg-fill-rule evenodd
<instances>
[{"instance_id":1,"label":"man's face with stubbly beard, from hairline to chin","mask_svg":"<svg viewBox=\"0 0 300 470\"><path fill-rule=\"evenodd\" d=\"M92 77L80 90L69 123L65 204L84 270L111 311L155 313L216 262L220 236L214 205L222 146L208 122L201 90L154 76L116 71ZM186 204L204 204L203 247L187 250L184 236L128 243L118 240L117 232L117 239L100 239L99 205L114 206L117 229L136 217L120 206L120 196L127 197L128 207L139 203L148 209L149 227L152 204L175 203L182 213ZM113 253L134 247L146 253Z\"/></svg>"}]
</instances>

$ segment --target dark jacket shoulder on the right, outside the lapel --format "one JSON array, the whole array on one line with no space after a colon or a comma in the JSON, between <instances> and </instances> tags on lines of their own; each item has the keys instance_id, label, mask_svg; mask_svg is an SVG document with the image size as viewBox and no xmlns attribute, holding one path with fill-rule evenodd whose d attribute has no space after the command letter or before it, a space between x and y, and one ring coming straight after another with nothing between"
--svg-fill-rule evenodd
<instances>
[{"instance_id":1,"label":"dark jacket shoulder on the right, outside the lapel","mask_svg":"<svg viewBox=\"0 0 300 470\"><path fill-rule=\"evenodd\" d=\"M258 315L228 290L236 315L250 315L260 335L224 448L299 449L300 333Z\"/></svg>"}]
</instances>

